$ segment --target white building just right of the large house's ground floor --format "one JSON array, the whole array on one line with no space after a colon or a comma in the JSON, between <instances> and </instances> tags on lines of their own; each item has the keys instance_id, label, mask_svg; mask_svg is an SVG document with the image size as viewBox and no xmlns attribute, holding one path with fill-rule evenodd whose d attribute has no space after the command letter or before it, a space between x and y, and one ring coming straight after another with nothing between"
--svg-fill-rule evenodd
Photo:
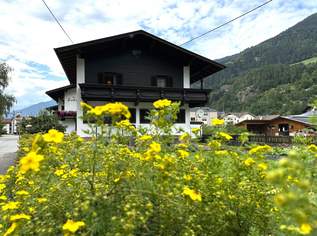
<instances>
[{"instance_id":1,"label":"white building just right of the large house's ground floor","mask_svg":"<svg viewBox=\"0 0 317 236\"><path fill-rule=\"evenodd\" d=\"M212 119L218 118L218 112L209 107L194 107L190 109L190 122L192 124L210 125Z\"/></svg>"}]
</instances>

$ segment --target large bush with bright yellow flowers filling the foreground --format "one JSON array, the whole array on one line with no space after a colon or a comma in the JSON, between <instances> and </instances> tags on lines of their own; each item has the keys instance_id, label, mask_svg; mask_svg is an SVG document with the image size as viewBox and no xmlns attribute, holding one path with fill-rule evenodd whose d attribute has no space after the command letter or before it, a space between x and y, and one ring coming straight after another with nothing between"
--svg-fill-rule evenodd
<instances>
[{"instance_id":1,"label":"large bush with bright yellow flowers filling the foreground","mask_svg":"<svg viewBox=\"0 0 317 236\"><path fill-rule=\"evenodd\" d=\"M316 233L317 146L270 161L270 146L231 147L221 130L206 145L187 133L175 143L179 104L168 100L154 103L149 130L134 128L120 103L82 105L96 121L91 139L57 130L21 138L19 164L0 179L1 234Z\"/></svg>"}]
</instances>

